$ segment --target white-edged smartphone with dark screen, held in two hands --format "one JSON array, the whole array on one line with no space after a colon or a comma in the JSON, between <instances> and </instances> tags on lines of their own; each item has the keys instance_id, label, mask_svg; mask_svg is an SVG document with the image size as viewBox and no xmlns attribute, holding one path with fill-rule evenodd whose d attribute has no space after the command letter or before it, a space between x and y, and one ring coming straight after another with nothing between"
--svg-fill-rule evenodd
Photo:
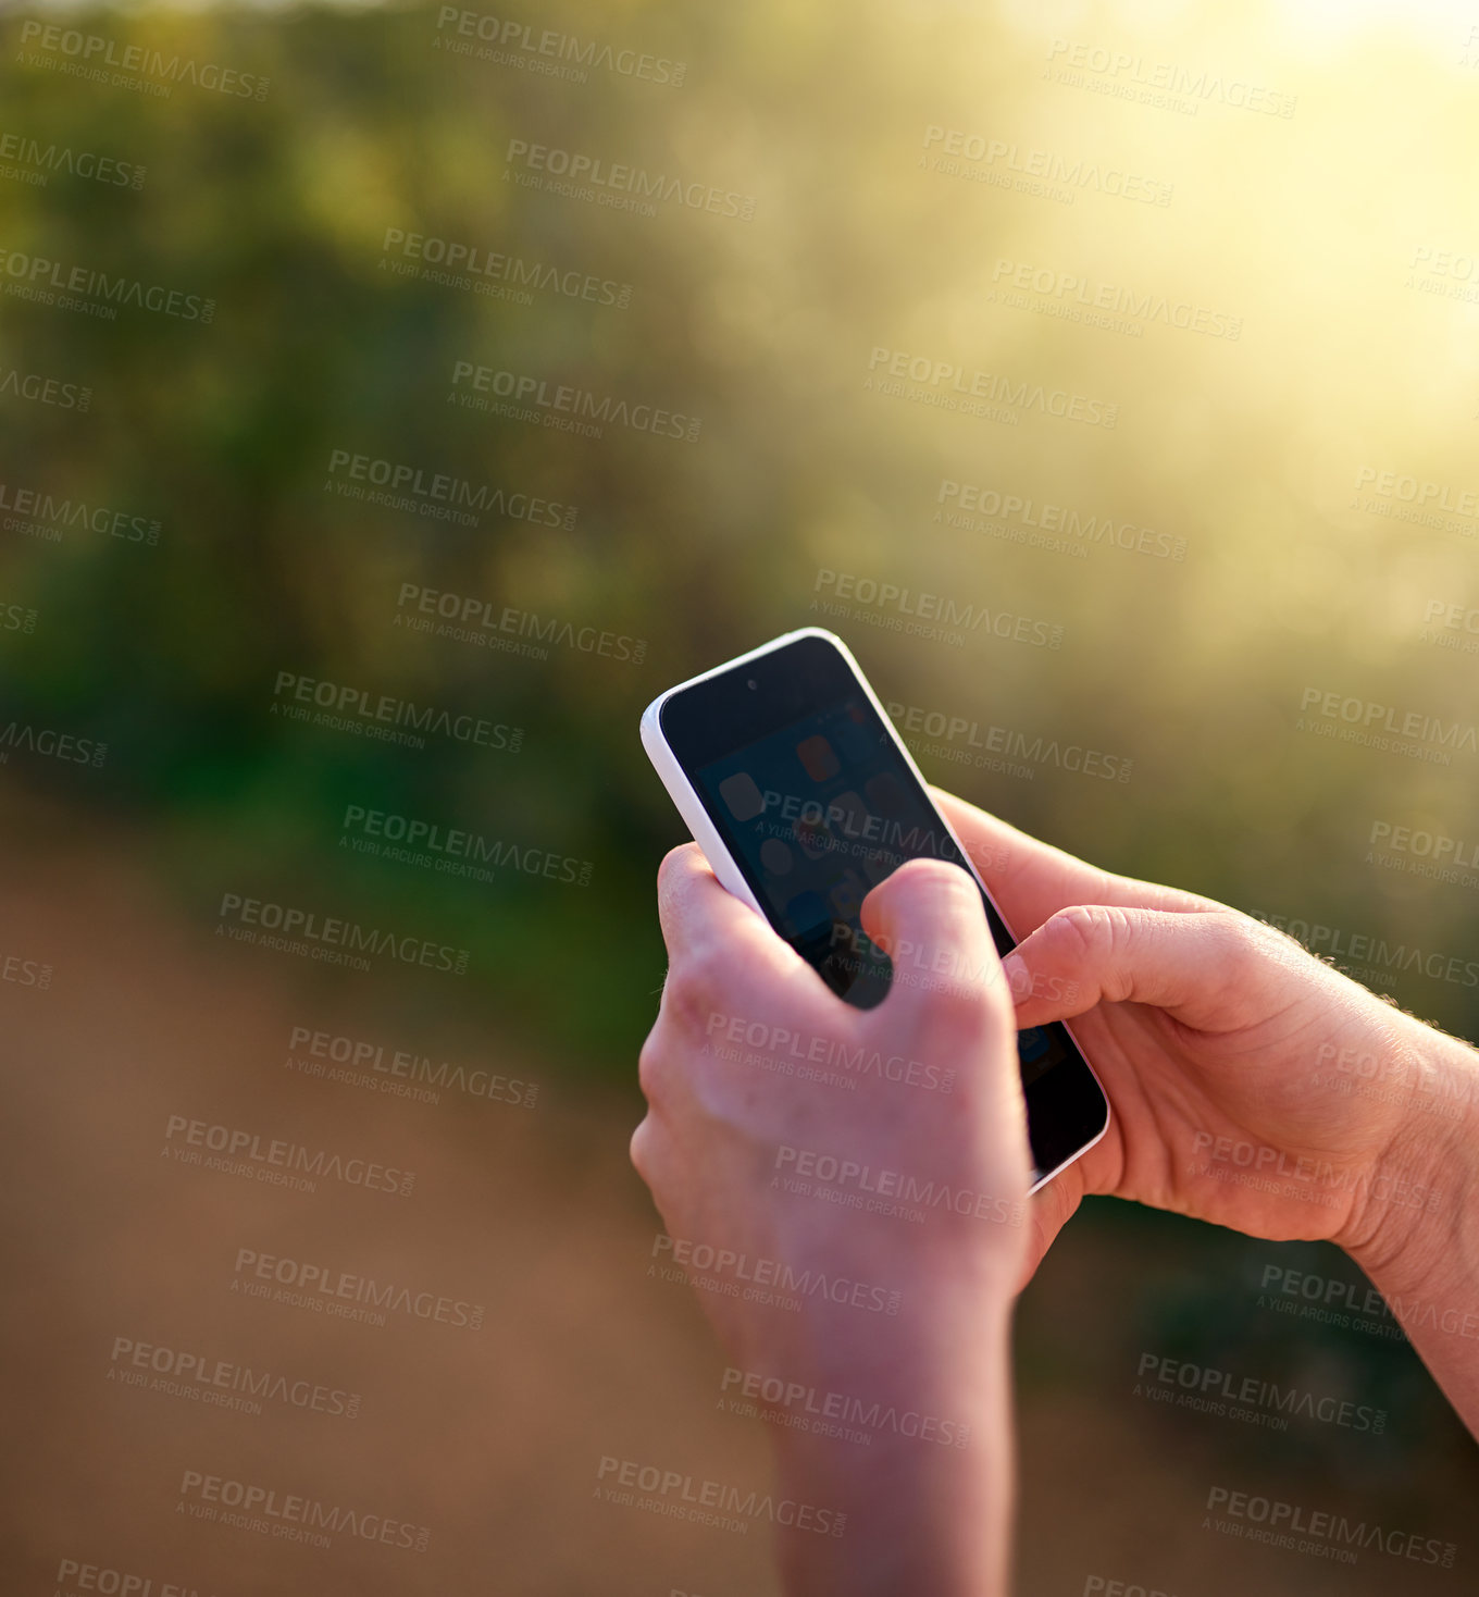
<instances>
[{"instance_id":1,"label":"white-edged smartphone with dark screen, held in two hands","mask_svg":"<svg viewBox=\"0 0 1479 1597\"><path fill-rule=\"evenodd\" d=\"M647 706L642 746L714 875L847 1003L870 1009L888 957L859 920L869 888L907 859L963 866L998 953L1014 937L936 810L847 644L787 632ZM1091 1148L1108 1100L1067 1025L1017 1032L1032 1190Z\"/></svg>"}]
</instances>

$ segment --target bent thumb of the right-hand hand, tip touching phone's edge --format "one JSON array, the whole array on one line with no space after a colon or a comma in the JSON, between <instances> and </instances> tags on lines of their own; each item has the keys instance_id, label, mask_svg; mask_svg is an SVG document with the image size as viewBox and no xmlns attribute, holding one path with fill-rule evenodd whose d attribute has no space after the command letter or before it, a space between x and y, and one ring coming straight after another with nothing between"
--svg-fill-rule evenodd
<instances>
[{"instance_id":1,"label":"bent thumb of the right-hand hand, tip touching phone's edge","mask_svg":"<svg viewBox=\"0 0 1479 1597\"><path fill-rule=\"evenodd\" d=\"M1024 937L1003 968L1019 1027L1131 1001L1222 1030L1235 1024L1227 1000L1247 974L1246 955L1230 913L1078 904Z\"/></svg>"}]
</instances>

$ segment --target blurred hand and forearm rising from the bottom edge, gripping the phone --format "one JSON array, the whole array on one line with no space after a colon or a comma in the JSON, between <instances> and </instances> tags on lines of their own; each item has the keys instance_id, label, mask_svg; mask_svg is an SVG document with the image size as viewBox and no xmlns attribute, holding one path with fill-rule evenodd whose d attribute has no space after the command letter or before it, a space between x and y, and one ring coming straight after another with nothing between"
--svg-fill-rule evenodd
<instances>
[{"instance_id":1,"label":"blurred hand and forearm rising from the bottom edge, gripping the phone","mask_svg":"<svg viewBox=\"0 0 1479 1597\"><path fill-rule=\"evenodd\" d=\"M834 997L693 845L663 861L658 907L671 965L640 1056L650 1108L632 1163L672 1238L843 1284L843 1302L808 1295L802 1313L701 1290L732 1367L815 1389L818 1402L835 1393L950 1426L936 1425L931 1440L877 1429L859 1445L775 1423L776 1495L848 1516L840 1536L776 1532L786 1589L1005 1592L1009 1318L1027 1263L1029 1161L1011 993L974 885L957 866L915 861L869 894L869 936L917 950L909 963L926 973L870 1011ZM914 1060L920 1080L864 1075L847 1089L724 1057L728 1024L757 1019L803 1046L898 1060L901 1075ZM791 1062L786 1046L741 1052ZM949 1092L923 1084L926 1067L955 1070ZM915 1225L795 1195L779 1179L783 1150L949 1182L1008 1219L944 1209ZM874 1306L893 1292L896 1311ZM773 1421L795 1412L770 1405ZM952 1445L962 1429L966 1445Z\"/></svg>"}]
</instances>

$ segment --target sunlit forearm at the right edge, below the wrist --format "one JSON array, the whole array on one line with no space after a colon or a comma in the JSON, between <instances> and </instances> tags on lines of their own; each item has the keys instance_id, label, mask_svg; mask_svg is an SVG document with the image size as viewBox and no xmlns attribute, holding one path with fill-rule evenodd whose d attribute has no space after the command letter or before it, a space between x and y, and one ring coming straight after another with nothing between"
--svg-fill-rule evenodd
<instances>
[{"instance_id":1,"label":"sunlit forearm at the right edge, below the wrist","mask_svg":"<svg viewBox=\"0 0 1479 1597\"><path fill-rule=\"evenodd\" d=\"M1422 1206L1383 1215L1351 1255L1479 1439L1479 1052L1429 1027L1417 1033L1388 1190L1406 1179Z\"/></svg>"}]
</instances>

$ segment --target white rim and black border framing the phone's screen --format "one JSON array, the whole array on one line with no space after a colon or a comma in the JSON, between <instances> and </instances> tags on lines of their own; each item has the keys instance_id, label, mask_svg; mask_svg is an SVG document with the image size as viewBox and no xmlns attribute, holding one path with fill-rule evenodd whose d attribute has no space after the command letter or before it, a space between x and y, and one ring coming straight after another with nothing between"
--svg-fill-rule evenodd
<instances>
[{"instance_id":1,"label":"white rim and black border framing the phone's screen","mask_svg":"<svg viewBox=\"0 0 1479 1597\"><path fill-rule=\"evenodd\" d=\"M740 862L733 858L724 835L714 824L704 797L688 778L688 767L692 765L693 768L698 768L709 763L711 759L719 759L725 752L744 747L767 733L776 731L781 727L789 725L794 720L800 720L803 715L823 707L813 696L807 696L802 692L802 682L810 679L797 676L787 677L783 663L770 658L795 647L805 639L816 639L835 653L839 656L840 668L848 679L848 685L861 690L861 693L869 699L878 722L893 739L899 759L918 783L925 803L939 819L941 827L955 842L955 846L960 850L962 859L976 878L982 896L995 910L1003 928L1006 929L1006 934L1013 939L1013 942L1016 942L1016 933L1011 929L1009 921L1001 913L997 901L992 898L990 888L987 888L982 880L981 872L976 869L974 861L971 861L969 853L962 843L958 834L946 816L941 814L934 800L930 797L928 781L915 763L914 755L909 752L909 746L899 736L893 719L888 715L888 711L874 692L872 684L862 674L853 652L840 637L837 637L835 632L829 632L826 628L819 626L799 628L794 632L786 632L781 637L771 639L768 644L762 644L759 648L736 655L733 660L727 660L696 677L690 677L687 682L676 684L664 693L660 693L658 698L647 706L647 711L642 715L644 747L647 749L658 776L663 779L663 786L677 805L679 814L688 824L688 830L693 834L700 848L703 848L704 858L709 861L709 866L716 877L719 877L719 882L735 898L746 902L757 915L760 915L762 920L765 920L765 923L779 936L768 910L759 901L757 894L746 880ZM755 674L755 680L762 682L762 687L752 690L755 703L754 714L747 715L741 709L741 706L747 703L751 690L736 688L732 692L725 688L728 693L727 709L730 711L732 719L716 723L716 727L722 725L725 728L724 736L719 736L716 730L711 738L712 747L703 749L703 744L700 743L700 749L703 752L695 754L692 747L685 747L680 754L679 749L674 747L674 739L669 736L668 717L672 712L672 707L693 690L716 684L719 679L733 677L738 680L744 671ZM792 709L795 711L794 714L791 714ZM695 728L684 727L680 730L682 739L692 739L693 731ZM701 727L698 730L698 736L703 736ZM1033 1166L1032 1191L1037 1191L1040 1187L1053 1180L1053 1177L1061 1171L1065 1171L1077 1159L1083 1158L1083 1155L1088 1153L1089 1148L1092 1148L1108 1131L1112 1113L1108 1094L1104 1091L1104 1084L1094 1072L1094 1067L1089 1064L1088 1056L1083 1051L1083 1044L1073 1035L1072 1027L1062 1020L1054 1022L1054 1025L1062 1027L1062 1032L1072 1044L1075 1057L1062 1060L1025 1089L1027 1113L1033 1124L1033 1132L1038 1140L1045 1142L1051 1150L1048 1161L1045 1161L1048 1163L1046 1171L1037 1164ZM1088 1113L1094 1104L1094 1099L1084 1092L1084 1088L1089 1084L1092 1084L1094 1096L1097 1097L1097 1105L1102 1108L1102 1113ZM1097 1129L1092 1129L1094 1126L1097 1126ZM1053 1131L1051 1139L1046 1135L1048 1127ZM1059 1151L1062 1151L1062 1156L1056 1158L1054 1155Z\"/></svg>"}]
</instances>

